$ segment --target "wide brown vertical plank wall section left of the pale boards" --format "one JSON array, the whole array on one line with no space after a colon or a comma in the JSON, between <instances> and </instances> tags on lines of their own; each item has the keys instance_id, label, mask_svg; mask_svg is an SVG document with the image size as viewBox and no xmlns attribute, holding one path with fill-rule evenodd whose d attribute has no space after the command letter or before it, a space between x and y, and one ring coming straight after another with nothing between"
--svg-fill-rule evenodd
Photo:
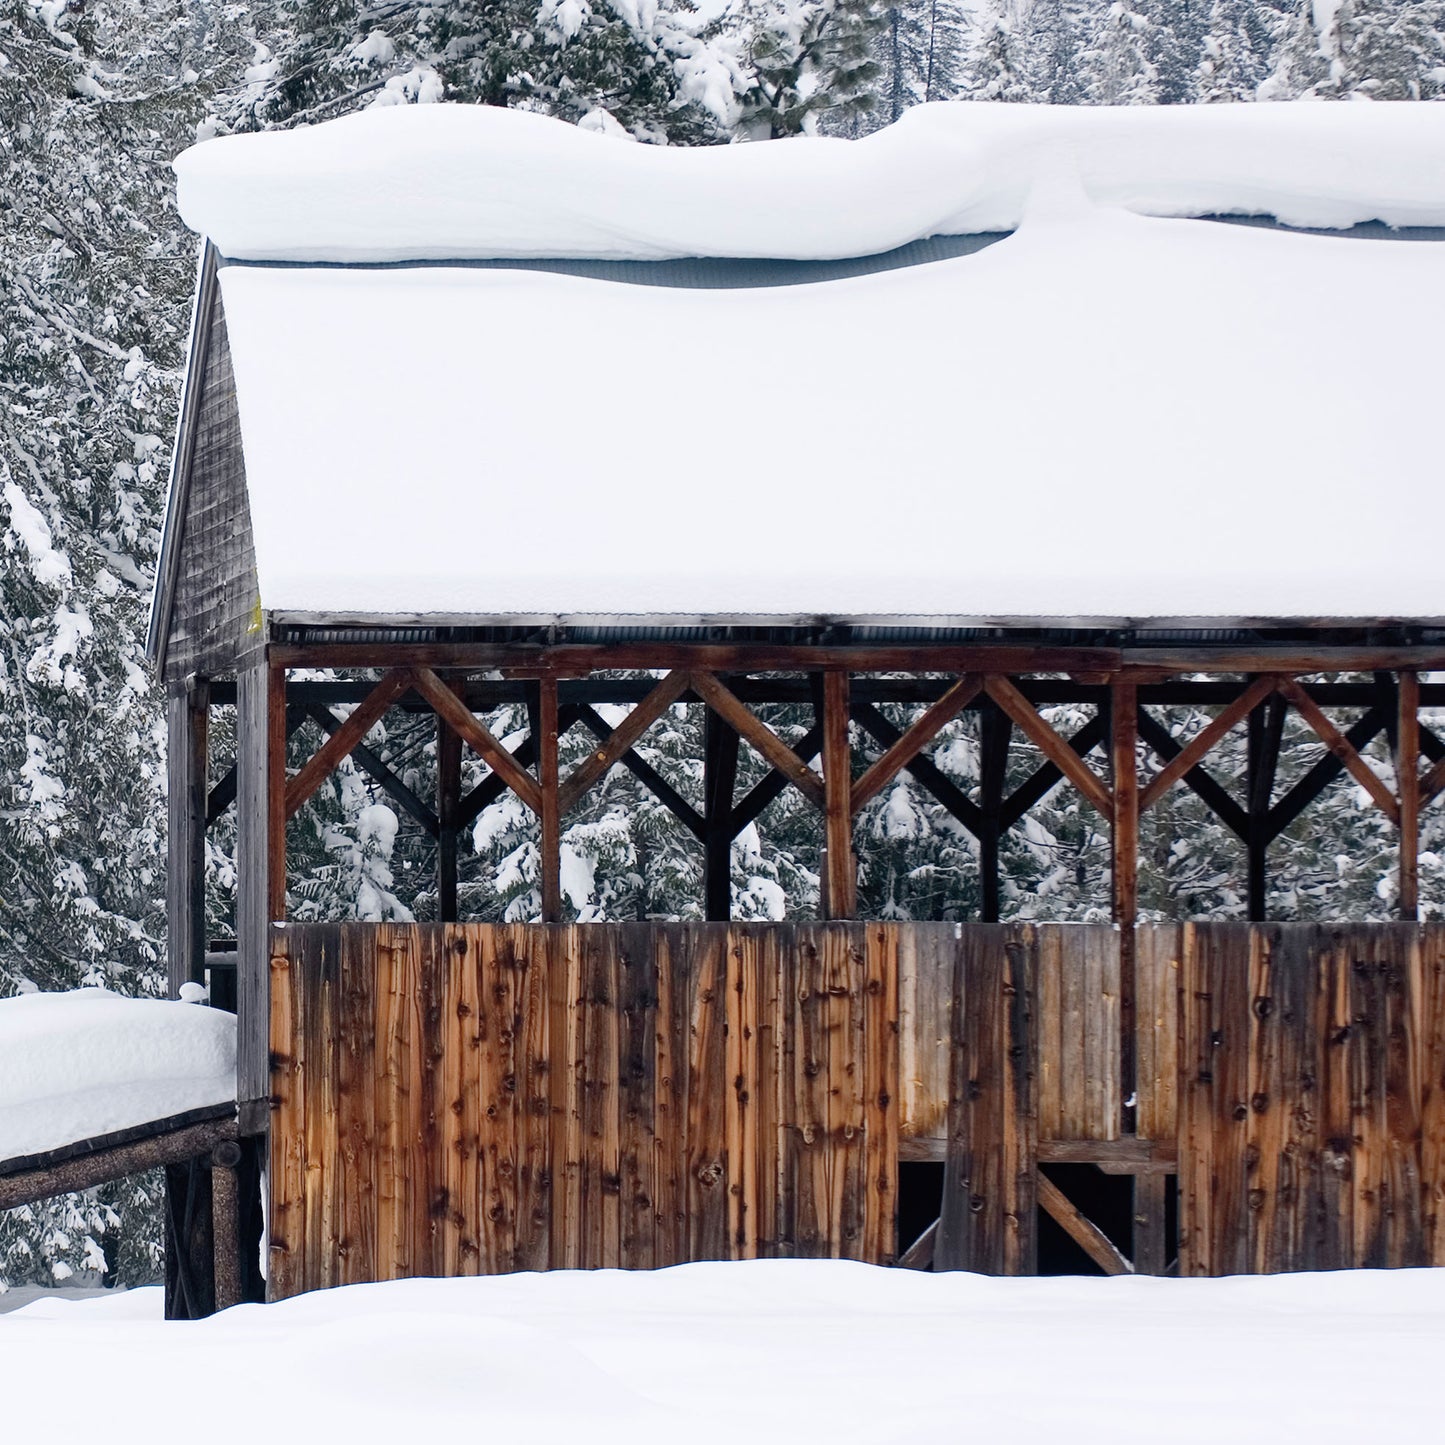
<instances>
[{"instance_id":1,"label":"wide brown vertical plank wall section left of the pale boards","mask_svg":"<svg viewBox=\"0 0 1445 1445\"><path fill-rule=\"evenodd\" d=\"M884 1263L896 931L273 931L270 1293Z\"/></svg>"}]
</instances>

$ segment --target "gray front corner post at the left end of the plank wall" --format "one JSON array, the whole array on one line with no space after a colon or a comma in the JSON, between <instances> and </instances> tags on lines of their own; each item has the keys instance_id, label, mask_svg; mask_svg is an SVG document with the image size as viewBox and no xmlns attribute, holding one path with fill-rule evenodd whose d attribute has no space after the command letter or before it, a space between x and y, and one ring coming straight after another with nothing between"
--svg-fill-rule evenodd
<instances>
[{"instance_id":1,"label":"gray front corner post at the left end of the plank wall","mask_svg":"<svg viewBox=\"0 0 1445 1445\"><path fill-rule=\"evenodd\" d=\"M286 916L286 673L259 662L236 679L237 1104L264 1133L270 1100L270 925Z\"/></svg>"}]
</instances>

